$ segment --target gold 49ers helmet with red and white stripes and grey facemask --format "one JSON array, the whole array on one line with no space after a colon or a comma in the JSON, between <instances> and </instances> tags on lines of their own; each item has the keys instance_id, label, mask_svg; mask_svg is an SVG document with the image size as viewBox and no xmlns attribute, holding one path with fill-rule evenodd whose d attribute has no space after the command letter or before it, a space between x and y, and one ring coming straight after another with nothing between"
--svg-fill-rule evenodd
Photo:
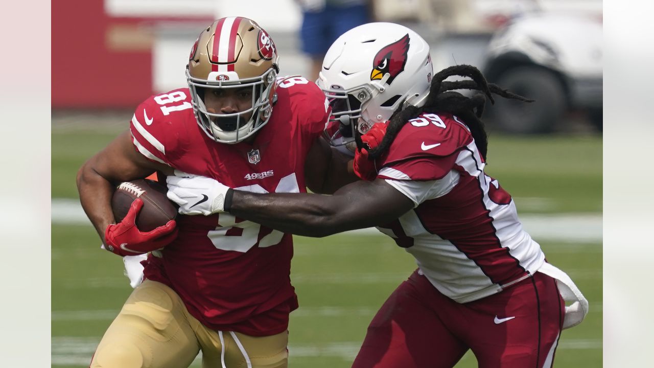
<instances>
[{"instance_id":1,"label":"gold 49ers helmet with red and white stripes and grey facemask","mask_svg":"<svg viewBox=\"0 0 654 368\"><path fill-rule=\"evenodd\" d=\"M205 133L220 143L238 143L270 119L279 72L277 49L254 20L221 18L203 29L186 67L193 110ZM252 107L230 114L209 113L204 103L211 88L252 88ZM245 121L249 113L252 116Z\"/></svg>"}]
</instances>

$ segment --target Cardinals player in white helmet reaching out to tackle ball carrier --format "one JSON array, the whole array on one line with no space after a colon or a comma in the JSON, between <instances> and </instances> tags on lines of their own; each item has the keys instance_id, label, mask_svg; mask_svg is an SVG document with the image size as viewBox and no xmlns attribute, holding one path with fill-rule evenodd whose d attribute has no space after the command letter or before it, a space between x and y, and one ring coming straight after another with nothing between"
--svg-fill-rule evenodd
<instances>
[{"instance_id":1,"label":"Cardinals player in white helmet reaching out to tackle ball carrier","mask_svg":"<svg viewBox=\"0 0 654 368\"><path fill-rule=\"evenodd\" d=\"M469 80L445 81L454 76ZM479 367L551 367L561 330L580 323L588 303L545 262L509 193L484 172L485 99L525 99L487 84L470 65L432 76L426 42L396 24L342 35L318 84L339 124L328 134L356 141L354 168L364 181L318 196L168 177L180 212L226 211L304 236L375 226L411 253L418 268L370 323L354 367L453 367L469 349ZM199 193L226 200L193 208Z\"/></svg>"}]
</instances>

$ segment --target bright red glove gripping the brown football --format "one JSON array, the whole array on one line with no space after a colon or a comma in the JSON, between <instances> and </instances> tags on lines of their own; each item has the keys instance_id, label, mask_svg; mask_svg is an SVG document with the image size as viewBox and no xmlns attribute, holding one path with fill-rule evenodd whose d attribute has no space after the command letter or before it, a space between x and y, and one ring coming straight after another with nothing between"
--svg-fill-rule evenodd
<instances>
[{"instance_id":1,"label":"bright red glove gripping the brown football","mask_svg":"<svg viewBox=\"0 0 654 368\"><path fill-rule=\"evenodd\" d=\"M105 246L109 251L120 256L138 255L161 249L177 238L175 220L168 221L152 231L142 232L136 227L135 219L143 207L143 200L136 198L129 207L125 218L117 224L111 224L105 230Z\"/></svg>"}]
</instances>

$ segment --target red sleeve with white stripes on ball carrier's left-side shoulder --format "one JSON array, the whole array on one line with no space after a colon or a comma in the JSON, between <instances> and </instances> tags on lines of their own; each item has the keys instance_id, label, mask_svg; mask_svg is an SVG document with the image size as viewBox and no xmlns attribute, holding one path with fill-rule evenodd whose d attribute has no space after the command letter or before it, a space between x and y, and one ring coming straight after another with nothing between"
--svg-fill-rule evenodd
<instances>
[{"instance_id":1,"label":"red sleeve with white stripes on ball carrier's left-side shoulder","mask_svg":"<svg viewBox=\"0 0 654 368\"><path fill-rule=\"evenodd\" d=\"M148 160L172 166L183 153L178 147L185 147L184 117L179 111L191 109L188 88L173 90L165 94L150 96L135 110L129 131L132 143Z\"/></svg>"}]
</instances>

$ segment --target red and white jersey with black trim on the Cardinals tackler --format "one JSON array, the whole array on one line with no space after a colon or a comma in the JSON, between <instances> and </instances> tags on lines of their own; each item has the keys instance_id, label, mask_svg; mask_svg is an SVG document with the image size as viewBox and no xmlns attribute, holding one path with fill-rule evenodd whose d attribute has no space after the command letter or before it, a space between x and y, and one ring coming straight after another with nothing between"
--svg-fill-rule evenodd
<instances>
[{"instance_id":1,"label":"red and white jersey with black trim on the Cardinals tackler","mask_svg":"<svg viewBox=\"0 0 654 368\"><path fill-rule=\"evenodd\" d=\"M481 299L543 265L540 245L523 230L509 193L485 174L472 134L457 117L409 120L377 164L377 177L415 203L378 229L411 253L447 297Z\"/></svg>"}]
</instances>

